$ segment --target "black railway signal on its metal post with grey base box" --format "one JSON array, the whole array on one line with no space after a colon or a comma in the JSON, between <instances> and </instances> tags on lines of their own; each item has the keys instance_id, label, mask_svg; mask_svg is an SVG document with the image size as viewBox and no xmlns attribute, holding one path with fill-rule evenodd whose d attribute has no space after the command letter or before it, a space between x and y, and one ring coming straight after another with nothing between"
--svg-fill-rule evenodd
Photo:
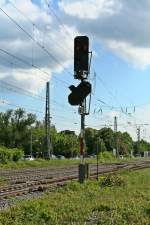
<instances>
[{"instance_id":1,"label":"black railway signal on its metal post with grey base box","mask_svg":"<svg viewBox=\"0 0 150 225\"><path fill-rule=\"evenodd\" d=\"M71 85L68 96L68 102L71 105L79 106L81 115L81 132L80 132L80 158L79 181L83 183L88 178L88 165L84 164L85 156L85 115L89 114L91 101L91 84L87 81L90 73L91 57L89 60L89 38L87 36L77 36L74 39L74 78L80 80L80 84L75 87ZM89 63L90 62L90 63ZM86 98L90 94L89 109L86 109Z\"/></svg>"}]
</instances>

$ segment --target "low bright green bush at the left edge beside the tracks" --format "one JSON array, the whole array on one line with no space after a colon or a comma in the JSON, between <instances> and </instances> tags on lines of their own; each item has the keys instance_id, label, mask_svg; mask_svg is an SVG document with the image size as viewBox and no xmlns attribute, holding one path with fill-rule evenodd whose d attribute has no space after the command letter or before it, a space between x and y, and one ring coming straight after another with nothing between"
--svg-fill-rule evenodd
<instances>
[{"instance_id":1,"label":"low bright green bush at the left edge beside the tracks","mask_svg":"<svg viewBox=\"0 0 150 225\"><path fill-rule=\"evenodd\" d=\"M0 163L6 164L12 161L18 161L23 157L23 151L17 148L8 149L0 147Z\"/></svg>"}]
</instances>

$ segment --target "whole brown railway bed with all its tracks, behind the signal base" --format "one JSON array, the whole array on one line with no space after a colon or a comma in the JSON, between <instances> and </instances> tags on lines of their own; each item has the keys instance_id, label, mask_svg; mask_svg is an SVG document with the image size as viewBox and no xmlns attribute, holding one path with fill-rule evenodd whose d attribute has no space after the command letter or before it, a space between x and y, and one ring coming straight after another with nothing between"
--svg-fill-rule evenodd
<instances>
[{"instance_id":1,"label":"whole brown railway bed with all its tracks, behind the signal base","mask_svg":"<svg viewBox=\"0 0 150 225\"><path fill-rule=\"evenodd\" d=\"M139 170L150 167L150 161L136 161L128 163L114 163L100 165L99 175L105 173L115 173L120 170ZM90 178L97 175L96 165L90 165ZM78 180L78 167L65 168L41 168L28 170L1 171L0 177L4 177L8 184L0 187L0 200L27 195L29 193L54 190L58 186L63 186L71 180Z\"/></svg>"}]
</instances>

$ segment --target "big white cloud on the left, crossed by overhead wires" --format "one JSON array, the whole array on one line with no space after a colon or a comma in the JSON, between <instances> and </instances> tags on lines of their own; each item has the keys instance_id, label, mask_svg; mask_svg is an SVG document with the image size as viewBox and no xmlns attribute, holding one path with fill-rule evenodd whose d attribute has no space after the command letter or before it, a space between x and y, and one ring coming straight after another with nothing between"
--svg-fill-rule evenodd
<instances>
[{"instance_id":1,"label":"big white cloud on the left, crossed by overhead wires","mask_svg":"<svg viewBox=\"0 0 150 225\"><path fill-rule=\"evenodd\" d=\"M16 26L5 13L0 12L0 30L2 31L0 77L23 88L38 91L50 79L53 72L61 73L64 68L70 66L73 52L69 49L73 49L76 29L66 25L71 37L66 35L63 25L56 24L56 20L47 13L47 10L31 0L23 2L0 0L0 7L35 39L35 41L31 40L29 35ZM22 15L15 7L22 12ZM44 48L40 48L37 43ZM1 49L21 58L26 63L5 54ZM43 49L48 51L48 54ZM32 64L38 67L39 71Z\"/></svg>"}]
</instances>

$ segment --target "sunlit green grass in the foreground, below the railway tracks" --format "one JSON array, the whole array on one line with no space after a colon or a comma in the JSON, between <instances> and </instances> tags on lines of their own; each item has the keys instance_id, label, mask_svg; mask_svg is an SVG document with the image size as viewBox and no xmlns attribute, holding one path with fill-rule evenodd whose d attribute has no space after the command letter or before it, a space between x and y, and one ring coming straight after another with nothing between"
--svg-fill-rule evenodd
<instances>
[{"instance_id":1,"label":"sunlit green grass in the foreground, below the railway tracks","mask_svg":"<svg viewBox=\"0 0 150 225\"><path fill-rule=\"evenodd\" d=\"M150 169L72 182L0 212L0 225L149 225Z\"/></svg>"}]
</instances>

